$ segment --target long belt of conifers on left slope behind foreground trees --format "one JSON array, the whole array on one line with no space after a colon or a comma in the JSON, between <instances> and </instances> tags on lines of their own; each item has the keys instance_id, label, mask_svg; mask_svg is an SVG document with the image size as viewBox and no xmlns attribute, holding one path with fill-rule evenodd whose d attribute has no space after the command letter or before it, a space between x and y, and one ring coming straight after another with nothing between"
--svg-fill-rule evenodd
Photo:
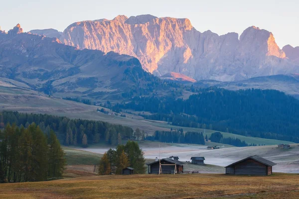
<instances>
[{"instance_id":1,"label":"long belt of conifers on left slope behind foreground trees","mask_svg":"<svg viewBox=\"0 0 299 199\"><path fill-rule=\"evenodd\" d=\"M6 123L28 127L32 122L38 124L45 133L53 129L61 143L66 146L88 147L88 144L99 143L101 140L105 140L110 145L117 145L120 138L133 139L135 136L134 130L130 127L103 121L69 119L48 114L28 114L17 111L0 112L0 128Z\"/></svg>"}]
</instances>

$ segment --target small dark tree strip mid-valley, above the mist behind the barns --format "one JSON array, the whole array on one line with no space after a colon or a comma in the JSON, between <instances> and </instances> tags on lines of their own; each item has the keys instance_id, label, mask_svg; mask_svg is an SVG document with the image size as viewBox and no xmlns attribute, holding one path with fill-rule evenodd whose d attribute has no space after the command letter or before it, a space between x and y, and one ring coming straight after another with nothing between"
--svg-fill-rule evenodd
<instances>
[{"instance_id":1,"label":"small dark tree strip mid-valley, above the mist behind the barns","mask_svg":"<svg viewBox=\"0 0 299 199\"><path fill-rule=\"evenodd\" d=\"M152 136L147 136L146 140L167 143L186 143L205 145L203 133L182 131L155 131Z\"/></svg>"}]
</instances>

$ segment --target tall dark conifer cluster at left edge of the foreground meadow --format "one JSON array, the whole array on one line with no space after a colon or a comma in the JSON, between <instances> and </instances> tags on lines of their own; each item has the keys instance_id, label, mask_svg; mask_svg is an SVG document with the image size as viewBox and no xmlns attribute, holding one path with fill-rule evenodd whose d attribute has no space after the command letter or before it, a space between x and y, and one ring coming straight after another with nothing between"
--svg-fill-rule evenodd
<instances>
[{"instance_id":1,"label":"tall dark conifer cluster at left edge of the foreground meadow","mask_svg":"<svg viewBox=\"0 0 299 199\"><path fill-rule=\"evenodd\" d=\"M53 131L35 123L6 125L0 132L0 182L33 182L62 177L64 152Z\"/></svg>"}]
</instances>

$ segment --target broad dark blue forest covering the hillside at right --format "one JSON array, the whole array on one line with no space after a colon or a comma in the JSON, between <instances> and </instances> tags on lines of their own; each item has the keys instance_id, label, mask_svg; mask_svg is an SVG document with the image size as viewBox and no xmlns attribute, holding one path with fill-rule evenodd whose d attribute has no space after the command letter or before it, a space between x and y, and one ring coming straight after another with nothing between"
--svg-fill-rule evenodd
<instances>
[{"instance_id":1,"label":"broad dark blue forest covering the hillside at right","mask_svg":"<svg viewBox=\"0 0 299 199\"><path fill-rule=\"evenodd\" d=\"M299 100L276 90L200 89L183 100L175 97L136 97L117 103L119 109L149 111L148 119L173 125L202 127L245 136L299 142Z\"/></svg>"}]
</instances>

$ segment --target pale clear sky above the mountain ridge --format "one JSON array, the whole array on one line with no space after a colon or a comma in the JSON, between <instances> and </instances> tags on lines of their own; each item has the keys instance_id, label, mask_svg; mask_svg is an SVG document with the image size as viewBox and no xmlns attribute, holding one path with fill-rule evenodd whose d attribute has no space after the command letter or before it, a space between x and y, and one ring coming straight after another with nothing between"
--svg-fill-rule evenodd
<instances>
[{"instance_id":1,"label":"pale clear sky above the mountain ridge","mask_svg":"<svg viewBox=\"0 0 299 199\"><path fill-rule=\"evenodd\" d=\"M0 26L24 31L63 31L76 21L113 19L119 14L188 18L200 32L239 35L255 25L274 34L282 48L299 46L298 0L0 0Z\"/></svg>"}]
</instances>

